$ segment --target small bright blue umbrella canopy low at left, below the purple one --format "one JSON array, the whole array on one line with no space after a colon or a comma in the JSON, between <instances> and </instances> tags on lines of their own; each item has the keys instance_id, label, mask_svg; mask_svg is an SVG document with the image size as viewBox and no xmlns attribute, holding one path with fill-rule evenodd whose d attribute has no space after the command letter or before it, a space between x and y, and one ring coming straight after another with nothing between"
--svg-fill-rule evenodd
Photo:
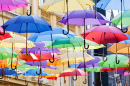
<instances>
[{"instance_id":1,"label":"small bright blue umbrella canopy low at left, below the purple one","mask_svg":"<svg viewBox=\"0 0 130 86\"><path fill-rule=\"evenodd\" d=\"M42 70L44 70L44 69L42 69ZM24 76L38 76L38 75L36 74L36 71L40 72L39 69L30 69L30 70L26 71L25 73L23 73L23 75L24 75ZM48 74L45 73L45 72L42 72L42 75L43 75L43 76L47 76Z\"/></svg>"}]
</instances>

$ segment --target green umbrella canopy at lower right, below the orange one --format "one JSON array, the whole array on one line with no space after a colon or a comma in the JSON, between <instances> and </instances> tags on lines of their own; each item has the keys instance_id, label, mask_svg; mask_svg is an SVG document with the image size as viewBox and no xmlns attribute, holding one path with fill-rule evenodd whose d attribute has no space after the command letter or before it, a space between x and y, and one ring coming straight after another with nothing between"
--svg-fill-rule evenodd
<instances>
[{"instance_id":1,"label":"green umbrella canopy at lower right, below the orange one","mask_svg":"<svg viewBox=\"0 0 130 86\"><path fill-rule=\"evenodd\" d=\"M108 55L106 56L108 59L107 61L99 61L98 64L101 67L109 67L109 68L122 68L122 67L128 67L128 65L124 65L124 63L128 60L128 57L125 55L117 54L117 60L120 61L119 64L116 64L116 54ZM106 58L105 57L105 58Z\"/></svg>"}]
</instances>

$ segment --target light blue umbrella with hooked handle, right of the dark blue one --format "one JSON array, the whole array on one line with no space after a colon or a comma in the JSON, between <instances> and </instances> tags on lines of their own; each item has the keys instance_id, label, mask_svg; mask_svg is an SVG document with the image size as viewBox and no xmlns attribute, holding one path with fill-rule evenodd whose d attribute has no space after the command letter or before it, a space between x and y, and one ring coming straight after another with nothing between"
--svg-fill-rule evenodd
<instances>
[{"instance_id":1,"label":"light blue umbrella with hooked handle, right of the dark blue one","mask_svg":"<svg viewBox=\"0 0 130 86\"><path fill-rule=\"evenodd\" d=\"M31 35L28 40L37 42L37 41L54 41L57 39L68 39L71 37L76 36L73 32L70 31L70 33L64 35L62 32L67 31L60 27L52 27L52 31L42 32L42 33L34 33ZM54 62L54 50L53 50L53 43L52 43L52 51L53 51L53 61L49 59L51 63Z\"/></svg>"}]
</instances>

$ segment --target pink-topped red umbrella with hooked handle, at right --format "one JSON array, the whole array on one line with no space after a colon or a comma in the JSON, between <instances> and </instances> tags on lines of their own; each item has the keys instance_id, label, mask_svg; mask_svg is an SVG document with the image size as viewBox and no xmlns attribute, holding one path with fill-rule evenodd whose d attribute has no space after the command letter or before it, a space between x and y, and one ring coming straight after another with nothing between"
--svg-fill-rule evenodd
<instances>
[{"instance_id":1,"label":"pink-topped red umbrella with hooked handle, at right","mask_svg":"<svg viewBox=\"0 0 130 86\"><path fill-rule=\"evenodd\" d=\"M83 37L85 35L85 39L97 42L98 44L118 43L120 41L128 39L126 35L116 27L106 25L92 27L86 30L85 34L82 33L81 35ZM104 48L103 48L103 61L106 60L104 60Z\"/></svg>"}]
</instances>

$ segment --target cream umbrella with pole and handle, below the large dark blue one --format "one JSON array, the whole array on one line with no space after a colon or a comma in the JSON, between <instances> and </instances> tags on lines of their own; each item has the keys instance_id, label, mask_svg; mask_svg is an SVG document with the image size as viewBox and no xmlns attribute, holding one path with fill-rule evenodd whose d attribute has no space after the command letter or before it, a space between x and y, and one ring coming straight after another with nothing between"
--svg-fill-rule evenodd
<instances>
[{"instance_id":1,"label":"cream umbrella with pole and handle, below the large dark blue one","mask_svg":"<svg viewBox=\"0 0 130 86\"><path fill-rule=\"evenodd\" d=\"M14 49L14 47L18 47L18 48L26 47L25 37L16 35L16 34L11 34L11 36L12 36L12 38L4 39L3 41L1 41L1 42L6 42L6 43L3 43L4 45L1 45L1 46L12 47L12 50ZM5 45L5 44L7 44L7 45ZM29 42L29 41L28 41L27 45L29 47L35 46L32 42ZM12 52L12 55L13 55L13 52ZM12 56L12 59L13 59L13 56ZM11 64L12 64L12 61L11 61ZM15 70L15 69L16 69L16 67L14 69L12 68L12 70Z\"/></svg>"}]
</instances>

